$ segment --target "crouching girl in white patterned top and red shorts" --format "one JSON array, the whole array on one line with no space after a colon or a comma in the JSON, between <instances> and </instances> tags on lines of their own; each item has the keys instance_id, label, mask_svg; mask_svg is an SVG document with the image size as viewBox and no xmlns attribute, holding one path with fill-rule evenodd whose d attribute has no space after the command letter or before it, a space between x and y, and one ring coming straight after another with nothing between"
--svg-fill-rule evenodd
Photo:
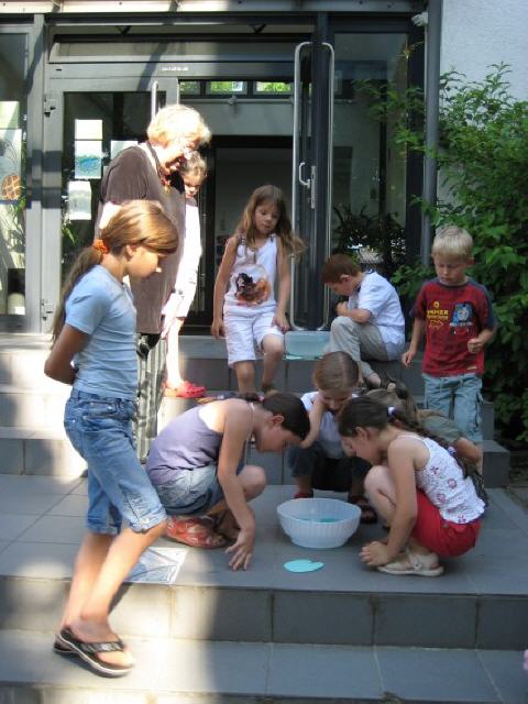
<instances>
[{"instance_id":1,"label":"crouching girl in white patterned top and red shorts","mask_svg":"<svg viewBox=\"0 0 528 704\"><path fill-rule=\"evenodd\" d=\"M471 477L447 448L427 437L405 414L369 397L341 411L345 451L373 464L369 497L389 524L386 542L363 547L361 559L388 574L438 576L438 557L474 547L484 513Z\"/></svg>"}]
</instances>

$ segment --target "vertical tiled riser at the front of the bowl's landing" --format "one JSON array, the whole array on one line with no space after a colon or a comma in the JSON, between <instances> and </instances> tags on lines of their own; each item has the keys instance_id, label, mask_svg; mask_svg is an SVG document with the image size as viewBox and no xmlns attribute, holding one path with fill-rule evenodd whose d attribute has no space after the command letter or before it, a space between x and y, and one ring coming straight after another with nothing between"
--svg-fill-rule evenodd
<instances>
[{"instance_id":1,"label":"vertical tiled riser at the front of the bowl's landing","mask_svg":"<svg viewBox=\"0 0 528 704\"><path fill-rule=\"evenodd\" d=\"M58 576L1 578L0 640L2 634L13 629L25 634L38 630L53 637L68 584L69 580ZM314 620L296 624L292 613L294 604L305 598L309 598ZM53 608L50 608L51 603ZM395 618L408 620L417 603L420 613L433 615L437 626L420 628L415 624L414 628L402 630ZM317 604L324 614L317 615ZM450 606L458 615L458 624L442 626L440 614L447 614ZM343 609L348 616L343 616ZM394 609L396 615L391 618ZM216 614L220 610L224 617L218 620ZM395 591L374 594L371 586L362 592L307 592L279 585L196 584L182 580L174 585L123 585L111 620L127 639L512 650L526 647L527 612L526 593ZM495 623L497 613L502 618ZM342 623L340 628L336 627L337 619ZM353 624L356 624L355 628Z\"/></svg>"}]
</instances>

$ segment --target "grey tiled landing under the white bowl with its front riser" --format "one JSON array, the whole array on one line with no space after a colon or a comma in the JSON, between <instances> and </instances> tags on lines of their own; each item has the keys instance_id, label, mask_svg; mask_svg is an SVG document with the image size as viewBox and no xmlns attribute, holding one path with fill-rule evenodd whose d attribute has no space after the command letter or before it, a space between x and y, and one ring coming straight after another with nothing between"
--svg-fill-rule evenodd
<instances>
[{"instance_id":1,"label":"grey tiled landing under the white bowl with its front riser","mask_svg":"<svg viewBox=\"0 0 528 704\"><path fill-rule=\"evenodd\" d=\"M0 634L46 632L51 639L84 535L86 481L0 475ZM380 525L361 525L334 550L294 546L276 518L290 493L271 486L253 503L257 537L248 571L229 570L223 550L160 539L157 548L182 560L175 582L124 585L111 617L118 632L175 644L526 647L528 515L502 490L491 492L476 548L444 560L441 578L422 580L363 566L358 553L385 535ZM300 558L324 566L306 574L284 569Z\"/></svg>"}]
</instances>

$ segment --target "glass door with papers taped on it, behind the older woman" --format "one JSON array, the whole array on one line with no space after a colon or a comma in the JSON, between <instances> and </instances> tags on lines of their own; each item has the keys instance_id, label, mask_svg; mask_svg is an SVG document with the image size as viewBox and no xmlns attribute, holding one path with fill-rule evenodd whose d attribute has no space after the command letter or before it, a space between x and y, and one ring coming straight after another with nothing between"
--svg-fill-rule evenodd
<instances>
[{"instance_id":1,"label":"glass door with papers taped on it, behind the older woman","mask_svg":"<svg viewBox=\"0 0 528 704\"><path fill-rule=\"evenodd\" d=\"M57 81L57 89L46 98L44 330L66 273L94 239L105 168L121 150L145 140L153 111L166 101L176 102L176 80L152 78L138 84L131 78L99 78L94 84L67 79Z\"/></svg>"}]
</instances>

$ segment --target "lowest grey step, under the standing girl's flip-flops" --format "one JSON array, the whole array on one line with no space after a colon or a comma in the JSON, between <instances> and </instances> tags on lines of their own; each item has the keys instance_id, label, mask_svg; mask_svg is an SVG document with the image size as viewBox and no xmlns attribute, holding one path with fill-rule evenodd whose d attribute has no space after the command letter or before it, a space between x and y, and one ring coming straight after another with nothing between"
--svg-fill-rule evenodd
<instances>
[{"instance_id":1,"label":"lowest grey step, under the standing girl's flip-flops","mask_svg":"<svg viewBox=\"0 0 528 704\"><path fill-rule=\"evenodd\" d=\"M130 639L136 667L102 679L52 653L48 635L0 634L9 704L522 704L522 653ZM242 667L241 667L242 666Z\"/></svg>"}]
</instances>

